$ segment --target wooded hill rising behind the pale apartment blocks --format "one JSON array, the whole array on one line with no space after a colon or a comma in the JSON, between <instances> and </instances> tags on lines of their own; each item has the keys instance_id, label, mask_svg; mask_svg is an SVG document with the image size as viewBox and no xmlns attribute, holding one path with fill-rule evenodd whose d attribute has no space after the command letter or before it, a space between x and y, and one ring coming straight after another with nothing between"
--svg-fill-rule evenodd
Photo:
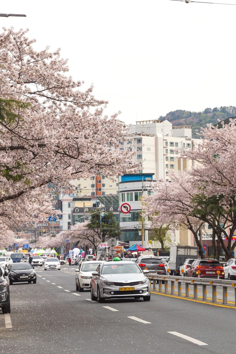
<instances>
[{"instance_id":1,"label":"wooded hill rising behind the pale apartment blocks","mask_svg":"<svg viewBox=\"0 0 236 354\"><path fill-rule=\"evenodd\" d=\"M236 107L220 107L220 108L206 108L203 112L190 112L185 110L175 110L167 113L166 116L160 116L159 119L167 119L173 125L191 125L192 137L199 138L196 135L196 130L201 127L205 128L207 123L213 125L218 122L218 119L224 120L226 118L236 115Z\"/></svg>"}]
</instances>

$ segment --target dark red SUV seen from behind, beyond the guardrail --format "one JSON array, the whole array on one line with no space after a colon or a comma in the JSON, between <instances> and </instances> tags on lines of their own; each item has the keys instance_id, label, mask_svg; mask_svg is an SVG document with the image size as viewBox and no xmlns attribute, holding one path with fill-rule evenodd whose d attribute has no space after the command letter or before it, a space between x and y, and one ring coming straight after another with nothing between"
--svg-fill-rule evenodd
<instances>
[{"instance_id":1,"label":"dark red SUV seen from behind, beyond the guardrail","mask_svg":"<svg viewBox=\"0 0 236 354\"><path fill-rule=\"evenodd\" d=\"M217 271L220 271L219 278L224 279L225 273L222 265L217 259L194 259L191 267L187 269L186 276L196 277L197 271L200 271L200 278L217 278Z\"/></svg>"}]
</instances>

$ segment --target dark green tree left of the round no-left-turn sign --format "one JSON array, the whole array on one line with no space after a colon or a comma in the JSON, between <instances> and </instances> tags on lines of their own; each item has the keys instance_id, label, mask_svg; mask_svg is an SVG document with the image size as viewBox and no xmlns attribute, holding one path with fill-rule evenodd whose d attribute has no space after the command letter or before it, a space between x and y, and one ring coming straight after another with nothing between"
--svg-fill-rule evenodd
<instances>
[{"instance_id":1,"label":"dark green tree left of the round no-left-turn sign","mask_svg":"<svg viewBox=\"0 0 236 354\"><path fill-rule=\"evenodd\" d=\"M97 209L97 211L91 213L90 222L86 227L93 230L101 238L101 242L104 242L106 238L119 238L119 224L112 212L105 214L100 219L100 210Z\"/></svg>"}]
</instances>

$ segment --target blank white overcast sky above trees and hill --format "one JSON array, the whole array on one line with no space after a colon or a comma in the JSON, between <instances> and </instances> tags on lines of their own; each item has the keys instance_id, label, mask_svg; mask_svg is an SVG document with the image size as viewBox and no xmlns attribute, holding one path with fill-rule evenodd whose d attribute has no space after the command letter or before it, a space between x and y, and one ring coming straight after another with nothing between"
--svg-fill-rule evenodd
<instances>
[{"instance_id":1,"label":"blank white overcast sky above trees and hill","mask_svg":"<svg viewBox=\"0 0 236 354\"><path fill-rule=\"evenodd\" d=\"M210 0L215 1L217 0ZM236 4L236 0L219 0ZM236 6L170 0L8 0L5 27L61 48L70 74L127 124L176 109L236 106Z\"/></svg>"}]
</instances>

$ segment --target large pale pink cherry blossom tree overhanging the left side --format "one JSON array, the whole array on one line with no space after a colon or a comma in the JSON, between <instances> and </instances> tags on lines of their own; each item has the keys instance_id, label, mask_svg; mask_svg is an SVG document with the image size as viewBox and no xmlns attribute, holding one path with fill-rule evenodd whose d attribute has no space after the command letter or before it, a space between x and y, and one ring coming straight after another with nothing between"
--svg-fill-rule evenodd
<instances>
[{"instance_id":1,"label":"large pale pink cherry blossom tree overhanging the left side","mask_svg":"<svg viewBox=\"0 0 236 354\"><path fill-rule=\"evenodd\" d=\"M104 115L107 102L67 74L60 50L34 50L27 30L0 36L0 220L51 213L47 185L69 187L84 175L112 178L137 167L120 150L127 126ZM35 204L34 204L35 202ZM31 209L30 209L30 208ZM12 219L13 214L13 219Z\"/></svg>"}]
</instances>

